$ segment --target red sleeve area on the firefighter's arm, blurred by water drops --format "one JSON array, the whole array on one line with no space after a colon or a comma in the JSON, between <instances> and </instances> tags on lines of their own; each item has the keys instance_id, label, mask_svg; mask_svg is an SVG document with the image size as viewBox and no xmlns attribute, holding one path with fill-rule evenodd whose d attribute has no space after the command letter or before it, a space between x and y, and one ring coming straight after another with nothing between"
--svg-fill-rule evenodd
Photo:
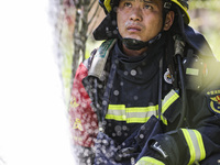
<instances>
[{"instance_id":1,"label":"red sleeve area on the firefighter's arm, blurred by water drops","mask_svg":"<svg viewBox=\"0 0 220 165\"><path fill-rule=\"evenodd\" d=\"M91 146L98 132L97 116L90 107L91 100L81 82L88 75L85 64L81 63L76 72L69 103L74 147L82 162L92 157Z\"/></svg>"}]
</instances>

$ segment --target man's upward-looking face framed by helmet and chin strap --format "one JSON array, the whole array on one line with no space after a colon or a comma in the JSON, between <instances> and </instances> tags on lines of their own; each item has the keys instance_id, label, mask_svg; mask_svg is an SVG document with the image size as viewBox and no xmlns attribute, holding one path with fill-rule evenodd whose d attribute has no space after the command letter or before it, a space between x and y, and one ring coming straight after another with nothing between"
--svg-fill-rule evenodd
<instances>
[{"instance_id":1,"label":"man's upward-looking face framed by helmet and chin strap","mask_svg":"<svg viewBox=\"0 0 220 165\"><path fill-rule=\"evenodd\" d=\"M120 0L117 23L122 37L150 41L162 30L162 0Z\"/></svg>"}]
</instances>

